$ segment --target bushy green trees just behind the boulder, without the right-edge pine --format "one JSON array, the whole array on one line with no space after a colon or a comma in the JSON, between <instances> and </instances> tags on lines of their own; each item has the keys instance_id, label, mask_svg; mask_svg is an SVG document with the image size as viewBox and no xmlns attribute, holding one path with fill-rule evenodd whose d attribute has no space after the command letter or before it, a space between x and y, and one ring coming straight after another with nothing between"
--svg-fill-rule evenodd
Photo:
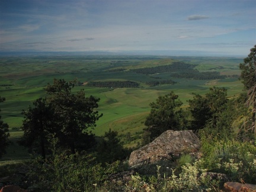
<instances>
[{"instance_id":1,"label":"bushy green trees just behind the boulder, without the right-edge pine","mask_svg":"<svg viewBox=\"0 0 256 192\"><path fill-rule=\"evenodd\" d=\"M199 135L213 136L216 140L233 137L251 139L253 134L248 135L251 133L248 129L241 126L238 130L236 127L239 123L236 120L248 117L245 100L244 94L229 100L227 89L217 87L210 88L204 96L194 94L193 99L188 100L187 108L181 107L183 103L174 92L159 96L150 104L151 113L145 121L147 127L143 135L143 145L154 140L165 130L188 129Z\"/></svg>"}]
</instances>

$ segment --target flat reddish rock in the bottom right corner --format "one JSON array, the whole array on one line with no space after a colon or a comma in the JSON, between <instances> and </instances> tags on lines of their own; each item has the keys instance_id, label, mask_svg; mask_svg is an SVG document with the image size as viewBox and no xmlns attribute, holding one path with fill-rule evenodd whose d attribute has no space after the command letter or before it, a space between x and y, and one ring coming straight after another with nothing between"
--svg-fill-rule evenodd
<instances>
[{"instance_id":1,"label":"flat reddish rock in the bottom right corner","mask_svg":"<svg viewBox=\"0 0 256 192\"><path fill-rule=\"evenodd\" d=\"M256 192L256 185L242 184L237 182L226 182L224 184L224 191L226 192Z\"/></svg>"}]
</instances>

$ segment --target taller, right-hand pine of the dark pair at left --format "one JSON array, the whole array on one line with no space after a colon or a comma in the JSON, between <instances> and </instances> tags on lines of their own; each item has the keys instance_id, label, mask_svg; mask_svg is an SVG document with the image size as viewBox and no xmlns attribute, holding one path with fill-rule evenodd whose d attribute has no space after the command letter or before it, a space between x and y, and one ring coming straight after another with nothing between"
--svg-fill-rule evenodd
<instances>
[{"instance_id":1,"label":"taller, right-hand pine of the dark pair at left","mask_svg":"<svg viewBox=\"0 0 256 192\"><path fill-rule=\"evenodd\" d=\"M54 79L53 85L46 87L47 101L52 104L58 117L56 123L59 127L57 137L60 144L67 146L75 153L75 149L82 142L88 142L88 128L94 129L95 122L103 116L98 114L100 98L85 97L83 89L73 93L76 80L66 82L64 79Z\"/></svg>"}]
</instances>

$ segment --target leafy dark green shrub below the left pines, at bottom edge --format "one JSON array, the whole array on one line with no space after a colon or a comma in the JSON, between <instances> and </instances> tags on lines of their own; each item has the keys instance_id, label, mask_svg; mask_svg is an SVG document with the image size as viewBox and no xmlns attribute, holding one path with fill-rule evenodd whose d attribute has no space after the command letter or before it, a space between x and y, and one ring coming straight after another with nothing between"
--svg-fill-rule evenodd
<instances>
[{"instance_id":1,"label":"leafy dark green shrub below the left pines, at bottom edge","mask_svg":"<svg viewBox=\"0 0 256 192\"><path fill-rule=\"evenodd\" d=\"M119 167L119 161L104 167L87 153L72 154L69 151L56 153L42 159L40 156L31 162L27 174L33 181L29 190L33 191L95 191L103 186L108 176Z\"/></svg>"}]
</instances>

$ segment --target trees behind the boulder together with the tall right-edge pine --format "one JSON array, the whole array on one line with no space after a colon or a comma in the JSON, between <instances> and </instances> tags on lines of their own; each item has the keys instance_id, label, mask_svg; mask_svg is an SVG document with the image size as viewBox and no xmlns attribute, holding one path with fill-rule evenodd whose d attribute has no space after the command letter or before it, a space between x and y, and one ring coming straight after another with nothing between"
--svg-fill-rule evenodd
<instances>
[{"instance_id":1,"label":"trees behind the boulder together with the tall right-edge pine","mask_svg":"<svg viewBox=\"0 0 256 192\"><path fill-rule=\"evenodd\" d=\"M215 139L239 138L242 140L254 137L256 113L256 46L240 64L241 79L248 94L241 94L239 98L228 100L225 88L210 88L202 96L194 94L188 100L189 107L181 108L178 95L170 92L159 96L150 104L151 113L146 118L143 145L151 142L165 130L191 129L201 136L215 137ZM245 107L244 103L247 103ZM249 107L251 106L251 107ZM252 111L250 111L252 108ZM232 115L231 115L232 114ZM248 116L248 114L251 114ZM236 120L246 119L241 126L233 126Z\"/></svg>"}]
</instances>

